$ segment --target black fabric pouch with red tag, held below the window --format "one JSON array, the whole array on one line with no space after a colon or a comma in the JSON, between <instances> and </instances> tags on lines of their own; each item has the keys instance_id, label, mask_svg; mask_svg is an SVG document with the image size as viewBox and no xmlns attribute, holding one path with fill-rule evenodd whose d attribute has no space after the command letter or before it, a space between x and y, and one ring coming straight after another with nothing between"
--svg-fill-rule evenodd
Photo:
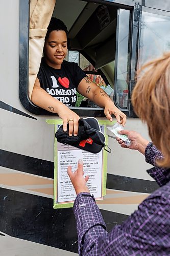
<instances>
[{"instance_id":1,"label":"black fabric pouch with red tag, held below the window","mask_svg":"<svg viewBox=\"0 0 170 256\"><path fill-rule=\"evenodd\" d=\"M94 154L99 153L103 147L105 148L105 136L100 130L98 120L94 117L79 119L79 130L77 136L68 135L68 125L69 124L67 124L67 132L63 131L63 125L61 125L57 130L55 137L58 142L75 146L81 150ZM108 152L111 152L111 150Z\"/></svg>"}]
</instances>

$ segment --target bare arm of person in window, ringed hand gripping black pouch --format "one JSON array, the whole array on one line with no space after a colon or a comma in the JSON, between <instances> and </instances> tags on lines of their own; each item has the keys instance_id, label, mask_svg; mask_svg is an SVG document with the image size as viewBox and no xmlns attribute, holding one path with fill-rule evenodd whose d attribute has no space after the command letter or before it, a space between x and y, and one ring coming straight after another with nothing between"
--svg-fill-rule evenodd
<instances>
[{"instance_id":1,"label":"bare arm of person in window, ringed hand gripping black pouch","mask_svg":"<svg viewBox=\"0 0 170 256\"><path fill-rule=\"evenodd\" d=\"M59 100L53 98L50 94L45 92L40 87L40 83L38 78L36 78L32 96L31 96L32 102L39 106L40 108L57 113L59 117L63 120L63 130L67 131L67 122L69 121L69 135L71 136L74 132L74 135L76 136L78 133L78 121L80 117L73 111L71 111L66 105L64 105ZM73 120L73 121L72 121Z\"/></svg>"}]
</instances>

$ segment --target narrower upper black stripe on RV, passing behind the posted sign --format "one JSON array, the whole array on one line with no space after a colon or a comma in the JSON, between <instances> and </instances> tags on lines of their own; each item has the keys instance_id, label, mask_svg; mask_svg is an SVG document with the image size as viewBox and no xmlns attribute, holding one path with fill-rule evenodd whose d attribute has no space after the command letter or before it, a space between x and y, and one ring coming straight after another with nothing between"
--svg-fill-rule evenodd
<instances>
[{"instance_id":1,"label":"narrower upper black stripe on RV, passing behind the posted sign","mask_svg":"<svg viewBox=\"0 0 170 256\"><path fill-rule=\"evenodd\" d=\"M0 166L19 170L20 172L54 178L54 162L5 150L0 150ZM107 174L107 188L150 194L158 188L158 185L155 181Z\"/></svg>"}]
</instances>

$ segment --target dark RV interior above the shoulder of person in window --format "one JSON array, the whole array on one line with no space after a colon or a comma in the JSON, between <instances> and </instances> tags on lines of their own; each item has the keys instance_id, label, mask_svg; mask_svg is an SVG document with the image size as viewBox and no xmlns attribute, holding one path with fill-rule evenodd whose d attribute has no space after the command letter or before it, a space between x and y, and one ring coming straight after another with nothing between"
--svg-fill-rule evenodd
<instances>
[{"instance_id":1,"label":"dark RV interior above the shoulder of person in window","mask_svg":"<svg viewBox=\"0 0 170 256\"><path fill-rule=\"evenodd\" d=\"M69 49L89 57L96 69L115 59L117 9L85 1L57 0L53 16L68 28Z\"/></svg>"}]
</instances>

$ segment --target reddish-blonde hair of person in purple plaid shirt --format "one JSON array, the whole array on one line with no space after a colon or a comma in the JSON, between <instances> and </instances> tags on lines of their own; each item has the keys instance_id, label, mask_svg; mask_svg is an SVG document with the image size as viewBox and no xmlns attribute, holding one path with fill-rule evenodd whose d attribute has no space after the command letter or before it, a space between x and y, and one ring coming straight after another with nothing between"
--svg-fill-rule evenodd
<instances>
[{"instance_id":1,"label":"reddish-blonde hair of person in purple plaid shirt","mask_svg":"<svg viewBox=\"0 0 170 256\"><path fill-rule=\"evenodd\" d=\"M133 90L132 104L164 156L157 163L170 167L170 52L144 65L139 74L143 70Z\"/></svg>"}]
</instances>

